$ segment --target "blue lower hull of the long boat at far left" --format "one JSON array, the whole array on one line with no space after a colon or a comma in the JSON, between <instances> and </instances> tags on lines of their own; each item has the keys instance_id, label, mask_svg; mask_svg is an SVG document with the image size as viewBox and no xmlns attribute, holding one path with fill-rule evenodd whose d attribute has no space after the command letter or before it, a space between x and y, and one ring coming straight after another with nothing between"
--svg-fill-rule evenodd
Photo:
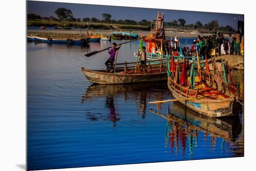
<instances>
[{"instance_id":1,"label":"blue lower hull of the long boat at far left","mask_svg":"<svg viewBox=\"0 0 256 171\"><path fill-rule=\"evenodd\" d=\"M44 42L44 43L66 43L66 44L87 44L89 39L47 39L42 37L34 36L35 41Z\"/></svg>"}]
</instances>

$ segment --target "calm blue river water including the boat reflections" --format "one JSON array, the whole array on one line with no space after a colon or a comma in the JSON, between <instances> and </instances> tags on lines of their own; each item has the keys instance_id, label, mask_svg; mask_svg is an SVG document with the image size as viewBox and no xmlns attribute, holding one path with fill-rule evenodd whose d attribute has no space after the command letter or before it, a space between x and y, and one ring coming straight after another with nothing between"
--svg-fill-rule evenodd
<instances>
[{"instance_id":1,"label":"calm blue river water including the boat reflections","mask_svg":"<svg viewBox=\"0 0 256 171\"><path fill-rule=\"evenodd\" d=\"M135 61L138 44L123 45L117 61ZM108 46L27 43L28 170L243 156L242 109L204 118L179 103L148 104L172 98L166 83L88 82L80 67L105 68L108 54L84 54ZM243 92L243 71L232 76Z\"/></svg>"}]
</instances>

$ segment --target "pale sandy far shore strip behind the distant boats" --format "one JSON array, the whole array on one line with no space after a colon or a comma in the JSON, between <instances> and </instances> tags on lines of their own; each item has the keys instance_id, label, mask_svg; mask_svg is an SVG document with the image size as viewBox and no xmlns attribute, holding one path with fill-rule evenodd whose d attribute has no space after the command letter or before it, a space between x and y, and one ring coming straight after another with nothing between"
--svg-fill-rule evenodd
<instances>
[{"instance_id":1,"label":"pale sandy far shore strip behind the distant boats","mask_svg":"<svg viewBox=\"0 0 256 171\"><path fill-rule=\"evenodd\" d=\"M108 34L111 35L111 32L115 32L117 30L92 30L91 33L101 33L101 34ZM124 31L125 32L125 31ZM129 31L127 31L129 32ZM58 34L86 34L87 30L27 30L28 34L37 34L37 33L58 33ZM136 33L139 36L146 36L150 32L149 31L133 31L132 33ZM197 33L184 33L184 32L174 32L174 31L165 31L166 37L172 37L174 38L175 35L177 35L179 38L196 38ZM202 36L209 36L211 34L201 34ZM224 35L225 36L225 35Z\"/></svg>"}]
</instances>

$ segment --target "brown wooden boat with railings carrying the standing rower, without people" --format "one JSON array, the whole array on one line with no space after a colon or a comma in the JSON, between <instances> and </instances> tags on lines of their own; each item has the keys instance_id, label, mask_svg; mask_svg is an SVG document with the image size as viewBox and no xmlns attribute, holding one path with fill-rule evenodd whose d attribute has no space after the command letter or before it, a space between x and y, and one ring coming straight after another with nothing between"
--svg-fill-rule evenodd
<instances>
[{"instance_id":1,"label":"brown wooden boat with railings carrying the standing rower, without people","mask_svg":"<svg viewBox=\"0 0 256 171\"><path fill-rule=\"evenodd\" d=\"M148 63L147 68L141 68L138 62L115 64L114 73L106 70L88 70L81 67L86 78L97 84L130 84L143 82L166 81L166 64Z\"/></svg>"}]
</instances>

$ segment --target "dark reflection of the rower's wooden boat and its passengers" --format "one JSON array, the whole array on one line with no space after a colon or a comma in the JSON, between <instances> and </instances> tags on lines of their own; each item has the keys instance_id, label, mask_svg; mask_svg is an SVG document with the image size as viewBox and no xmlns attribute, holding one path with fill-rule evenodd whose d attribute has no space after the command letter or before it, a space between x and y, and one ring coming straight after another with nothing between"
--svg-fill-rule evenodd
<instances>
[{"instance_id":1,"label":"dark reflection of the rower's wooden boat and its passengers","mask_svg":"<svg viewBox=\"0 0 256 171\"><path fill-rule=\"evenodd\" d=\"M150 87L150 88L149 88ZM154 93L153 93L154 92ZM162 100L163 96L170 96L171 93L167 90L166 82L164 83L148 83L132 84L132 85L98 85L92 84L88 87L85 94L82 96L81 103L89 103L95 97L105 97L105 107L109 109L108 118L100 114L86 114L91 120L103 118L113 122L113 126L121 119L118 112L118 98L135 101L136 111L141 118L146 118L147 99ZM157 104L156 108L162 110L163 105Z\"/></svg>"}]
</instances>

